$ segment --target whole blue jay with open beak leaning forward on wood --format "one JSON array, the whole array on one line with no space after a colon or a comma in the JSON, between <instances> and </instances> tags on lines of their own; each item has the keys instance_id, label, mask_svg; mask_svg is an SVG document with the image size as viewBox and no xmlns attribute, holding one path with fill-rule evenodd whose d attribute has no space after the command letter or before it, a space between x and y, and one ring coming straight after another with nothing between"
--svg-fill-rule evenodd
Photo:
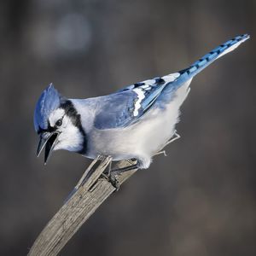
<instances>
[{"instance_id":1,"label":"whole blue jay with open beak leaning forward on wood","mask_svg":"<svg viewBox=\"0 0 256 256\"><path fill-rule=\"evenodd\" d=\"M131 84L108 96L67 99L49 84L34 112L40 136L37 154L45 147L45 164L52 151L66 149L90 159L98 155L136 159L138 168L148 168L152 156L177 136L179 108L194 76L248 38L247 34L233 38L186 69Z\"/></svg>"}]
</instances>

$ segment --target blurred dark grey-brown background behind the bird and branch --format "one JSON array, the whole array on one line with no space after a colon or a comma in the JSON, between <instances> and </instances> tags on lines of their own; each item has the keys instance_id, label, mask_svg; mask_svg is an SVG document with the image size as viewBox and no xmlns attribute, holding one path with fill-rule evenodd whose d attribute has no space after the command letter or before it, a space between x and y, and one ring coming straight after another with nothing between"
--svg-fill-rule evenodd
<instances>
[{"instance_id":1,"label":"blurred dark grey-brown background behind the bird and branch","mask_svg":"<svg viewBox=\"0 0 256 256\"><path fill-rule=\"evenodd\" d=\"M256 1L1 1L0 254L26 255L90 163L36 158L33 108L47 84L105 95L245 32L193 80L168 157L131 177L61 255L255 255Z\"/></svg>"}]
</instances>

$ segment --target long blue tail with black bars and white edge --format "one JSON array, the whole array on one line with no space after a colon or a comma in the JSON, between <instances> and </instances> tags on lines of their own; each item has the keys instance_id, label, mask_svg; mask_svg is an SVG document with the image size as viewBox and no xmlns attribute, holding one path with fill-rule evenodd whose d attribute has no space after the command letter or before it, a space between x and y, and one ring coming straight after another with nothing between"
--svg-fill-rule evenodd
<instances>
[{"instance_id":1,"label":"long blue tail with black bars and white edge","mask_svg":"<svg viewBox=\"0 0 256 256\"><path fill-rule=\"evenodd\" d=\"M177 79L177 82L184 82L186 80L192 79L197 73L200 73L204 68L210 65L213 61L217 60L219 57L229 53L233 49L236 49L239 44L246 41L250 38L249 35L244 34L241 36L237 36L229 40L224 44L220 44L217 48L212 49L207 55L201 57L199 61L195 61L190 67L179 71L181 76ZM180 83L178 83L180 84Z\"/></svg>"}]
</instances>

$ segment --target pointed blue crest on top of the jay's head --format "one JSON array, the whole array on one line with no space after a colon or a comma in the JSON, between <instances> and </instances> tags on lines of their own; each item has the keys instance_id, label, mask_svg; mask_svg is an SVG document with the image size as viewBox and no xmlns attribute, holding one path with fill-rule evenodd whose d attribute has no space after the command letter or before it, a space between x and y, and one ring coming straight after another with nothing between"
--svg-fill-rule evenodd
<instances>
[{"instance_id":1,"label":"pointed blue crest on top of the jay's head","mask_svg":"<svg viewBox=\"0 0 256 256\"><path fill-rule=\"evenodd\" d=\"M42 95L38 99L38 103L34 112L34 126L36 131L40 129L48 128L49 114L56 108L59 108L61 104L61 95L53 84L43 91Z\"/></svg>"}]
</instances>

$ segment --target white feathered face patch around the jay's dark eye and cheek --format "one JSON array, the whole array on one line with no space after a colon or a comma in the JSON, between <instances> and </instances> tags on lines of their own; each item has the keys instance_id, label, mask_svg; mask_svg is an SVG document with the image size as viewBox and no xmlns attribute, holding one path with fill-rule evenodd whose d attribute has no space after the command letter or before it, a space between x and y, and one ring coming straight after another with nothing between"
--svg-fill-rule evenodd
<instances>
[{"instance_id":1,"label":"white feathered face patch around the jay's dark eye and cheek","mask_svg":"<svg viewBox=\"0 0 256 256\"><path fill-rule=\"evenodd\" d=\"M73 125L70 117L65 114L64 109L57 108L49 115L49 125L57 127L60 132L57 137L54 150L66 149L68 151L78 152L83 148L84 137L79 128Z\"/></svg>"}]
</instances>

